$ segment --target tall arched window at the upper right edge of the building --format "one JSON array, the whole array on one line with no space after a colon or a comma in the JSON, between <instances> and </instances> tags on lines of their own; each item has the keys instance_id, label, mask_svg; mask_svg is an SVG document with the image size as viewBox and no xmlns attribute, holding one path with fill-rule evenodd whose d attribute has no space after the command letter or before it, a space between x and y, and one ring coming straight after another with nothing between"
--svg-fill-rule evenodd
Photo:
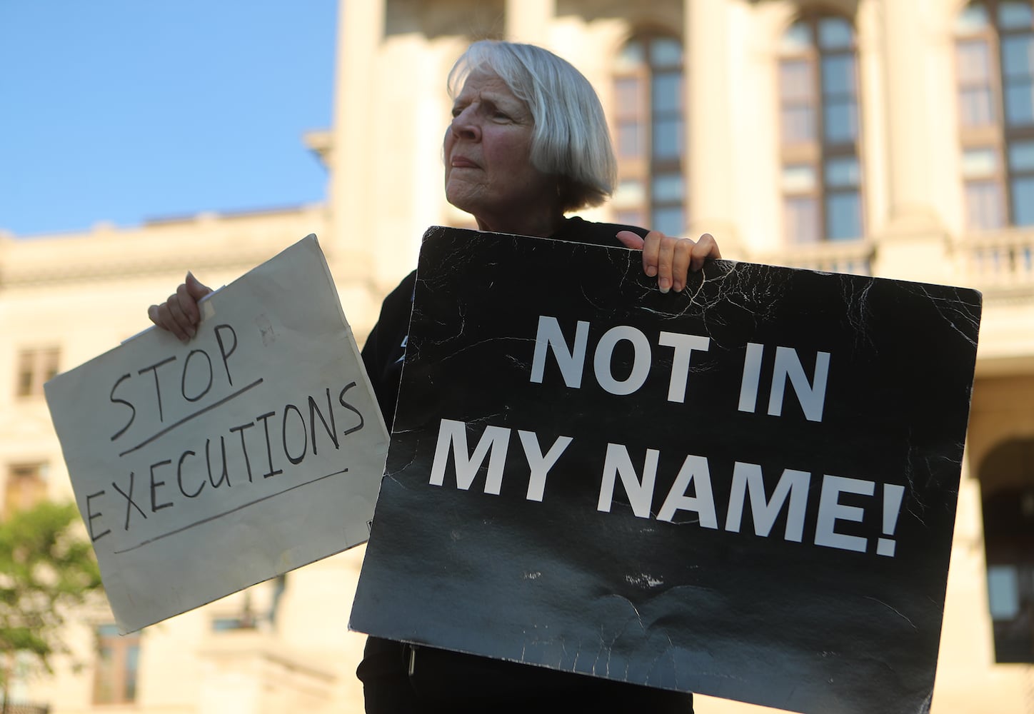
<instances>
[{"instance_id":1,"label":"tall arched window at the upper right edge of the building","mask_svg":"<svg viewBox=\"0 0 1034 714\"><path fill-rule=\"evenodd\" d=\"M967 224L1034 225L1034 8L972 2L955 30Z\"/></svg>"}]
</instances>

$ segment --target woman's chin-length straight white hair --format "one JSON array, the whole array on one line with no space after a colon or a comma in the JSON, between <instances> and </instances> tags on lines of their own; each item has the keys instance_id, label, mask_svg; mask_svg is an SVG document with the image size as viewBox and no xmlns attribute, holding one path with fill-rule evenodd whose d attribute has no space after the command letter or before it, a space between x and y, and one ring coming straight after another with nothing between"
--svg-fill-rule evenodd
<instances>
[{"instance_id":1,"label":"woman's chin-length straight white hair","mask_svg":"<svg viewBox=\"0 0 1034 714\"><path fill-rule=\"evenodd\" d=\"M613 192L617 161L600 98L574 65L534 44L480 40L449 71L456 98L472 72L498 75L535 121L531 165L559 178L564 211L599 206Z\"/></svg>"}]
</instances>

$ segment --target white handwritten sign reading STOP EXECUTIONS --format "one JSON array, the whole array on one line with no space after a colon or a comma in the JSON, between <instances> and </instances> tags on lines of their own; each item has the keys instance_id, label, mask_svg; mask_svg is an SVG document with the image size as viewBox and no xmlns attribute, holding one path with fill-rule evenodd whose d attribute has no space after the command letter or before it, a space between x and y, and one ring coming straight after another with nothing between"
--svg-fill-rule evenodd
<instances>
[{"instance_id":1,"label":"white handwritten sign reading STOP EXECUTIONS","mask_svg":"<svg viewBox=\"0 0 1034 714\"><path fill-rule=\"evenodd\" d=\"M369 534L388 432L315 236L201 307L45 385L123 632Z\"/></svg>"}]
</instances>

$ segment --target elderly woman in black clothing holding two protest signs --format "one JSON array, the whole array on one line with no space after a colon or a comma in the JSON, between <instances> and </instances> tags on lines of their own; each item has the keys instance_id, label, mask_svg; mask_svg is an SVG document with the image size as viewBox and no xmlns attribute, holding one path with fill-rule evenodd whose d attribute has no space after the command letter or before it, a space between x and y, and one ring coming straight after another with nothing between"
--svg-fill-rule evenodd
<instances>
[{"instance_id":1,"label":"elderly woman in black clothing holding two protest signs","mask_svg":"<svg viewBox=\"0 0 1034 714\"><path fill-rule=\"evenodd\" d=\"M690 271L720 257L714 240L675 239L634 226L565 214L602 204L615 159L600 100L571 64L528 44L476 42L449 74L452 122L444 144L449 203L494 232L642 250L643 271L662 292L681 290ZM576 270L576 267L572 267ZM363 348L387 424L392 424L415 274L385 300ZM194 334L197 300L209 291L192 276L151 319L180 339ZM366 710L499 712L576 705L587 711L692 712L690 694L370 638L358 673Z\"/></svg>"}]
</instances>

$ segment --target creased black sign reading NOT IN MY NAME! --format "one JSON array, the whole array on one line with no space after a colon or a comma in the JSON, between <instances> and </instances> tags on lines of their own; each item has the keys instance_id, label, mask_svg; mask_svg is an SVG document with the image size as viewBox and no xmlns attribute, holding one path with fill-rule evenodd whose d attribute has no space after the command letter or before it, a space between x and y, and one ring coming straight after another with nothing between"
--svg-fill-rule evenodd
<instances>
[{"instance_id":1,"label":"creased black sign reading NOT IN MY NAME!","mask_svg":"<svg viewBox=\"0 0 1034 714\"><path fill-rule=\"evenodd\" d=\"M974 290L445 228L352 625L800 712L929 705Z\"/></svg>"}]
</instances>

